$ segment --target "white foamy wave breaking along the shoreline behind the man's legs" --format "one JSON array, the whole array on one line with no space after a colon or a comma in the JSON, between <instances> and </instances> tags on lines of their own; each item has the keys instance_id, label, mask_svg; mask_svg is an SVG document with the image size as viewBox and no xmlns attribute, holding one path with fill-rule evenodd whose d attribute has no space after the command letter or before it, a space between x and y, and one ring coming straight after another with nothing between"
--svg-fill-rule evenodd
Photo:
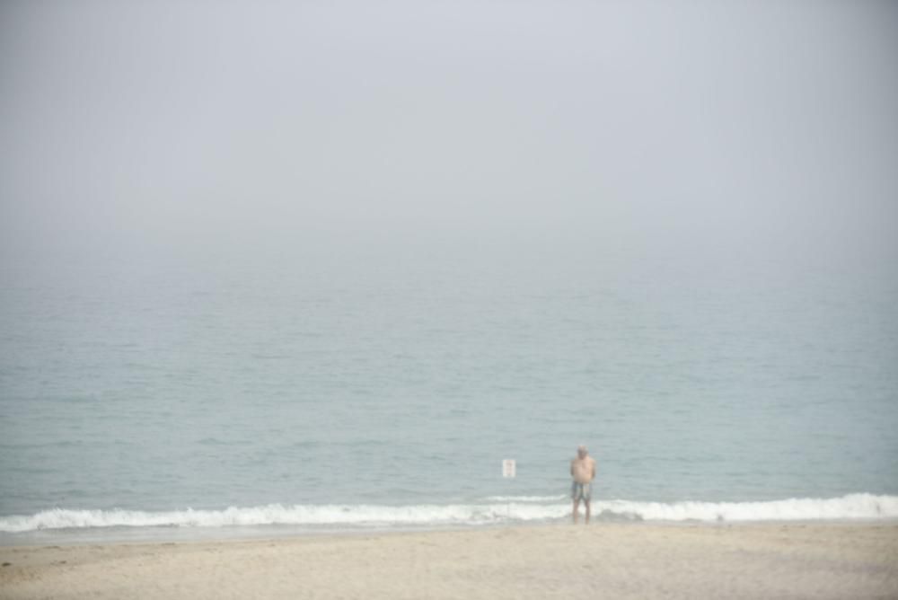
<instances>
[{"instance_id":1,"label":"white foamy wave breaking along the shoreline behind the man's legs","mask_svg":"<svg viewBox=\"0 0 898 600\"><path fill-rule=\"evenodd\" d=\"M234 525L489 525L509 520L547 521L569 516L568 502L558 496L508 498L493 504L375 505L271 504L262 507L228 507L224 510L70 510L55 508L31 516L0 517L0 532L22 533L46 529L86 527L223 527ZM542 499L542 500L540 500ZM850 494L833 499L786 499L765 502L636 502L596 501L599 518L646 521L801 521L898 518L898 496Z\"/></svg>"}]
</instances>

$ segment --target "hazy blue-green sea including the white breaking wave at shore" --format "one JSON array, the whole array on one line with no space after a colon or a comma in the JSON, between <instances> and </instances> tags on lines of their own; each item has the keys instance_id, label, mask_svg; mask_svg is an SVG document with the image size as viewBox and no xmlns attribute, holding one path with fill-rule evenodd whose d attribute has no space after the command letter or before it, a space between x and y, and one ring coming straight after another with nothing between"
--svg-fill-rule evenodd
<instances>
[{"instance_id":1,"label":"hazy blue-green sea including the white breaking wave at shore","mask_svg":"<svg viewBox=\"0 0 898 600\"><path fill-rule=\"evenodd\" d=\"M2 278L7 534L563 518L581 443L606 518L898 516L894 277L409 252Z\"/></svg>"}]
</instances>

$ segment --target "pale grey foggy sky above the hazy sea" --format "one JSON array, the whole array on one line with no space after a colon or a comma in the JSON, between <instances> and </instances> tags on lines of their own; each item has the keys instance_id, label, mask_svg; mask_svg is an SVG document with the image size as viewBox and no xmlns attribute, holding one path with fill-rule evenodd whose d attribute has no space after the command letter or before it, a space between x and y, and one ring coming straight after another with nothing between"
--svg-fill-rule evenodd
<instances>
[{"instance_id":1,"label":"pale grey foggy sky above the hazy sea","mask_svg":"<svg viewBox=\"0 0 898 600\"><path fill-rule=\"evenodd\" d=\"M4 2L0 252L898 258L898 4Z\"/></svg>"}]
</instances>

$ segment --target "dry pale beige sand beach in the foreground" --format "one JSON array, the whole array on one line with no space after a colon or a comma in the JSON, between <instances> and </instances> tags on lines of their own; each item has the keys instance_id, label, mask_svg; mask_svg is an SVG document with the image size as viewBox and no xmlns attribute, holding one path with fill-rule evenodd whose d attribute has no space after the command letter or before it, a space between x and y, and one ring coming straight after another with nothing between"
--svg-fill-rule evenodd
<instances>
[{"instance_id":1,"label":"dry pale beige sand beach in the foreground","mask_svg":"<svg viewBox=\"0 0 898 600\"><path fill-rule=\"evenodd\" d=\"M0 562L3 598L898 598L898 525L545 525L0 548Z\"/></svg>"}]
</instances>

